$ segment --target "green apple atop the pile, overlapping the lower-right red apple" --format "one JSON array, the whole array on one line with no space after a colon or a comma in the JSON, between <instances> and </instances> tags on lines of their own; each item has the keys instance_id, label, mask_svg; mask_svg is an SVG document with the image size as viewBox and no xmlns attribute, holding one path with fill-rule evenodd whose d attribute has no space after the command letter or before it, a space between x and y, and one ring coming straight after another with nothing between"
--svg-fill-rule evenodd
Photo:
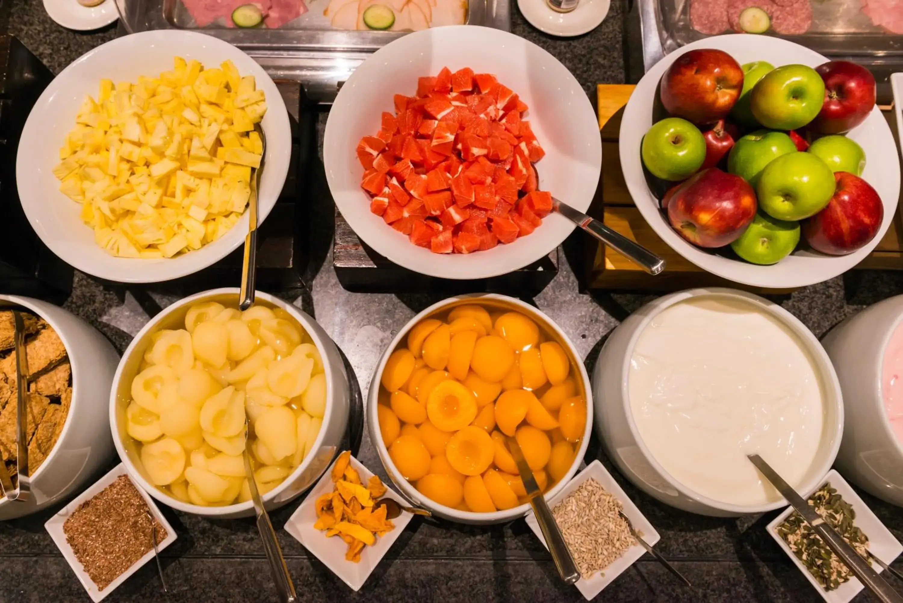
<instances>
[{"instance_id":1,"label":"green apple atop the pile, overlapping the lower-right red apple","mask_svg":"<svg viewBox=\"0 0 903 603\"><path fill-rule=\"evenodd\" d=\"M834 194L831 168L811 153L788 153L766 165L756 187L759 209L778 220L821 212Z\"/></svg>"}]
</instances>

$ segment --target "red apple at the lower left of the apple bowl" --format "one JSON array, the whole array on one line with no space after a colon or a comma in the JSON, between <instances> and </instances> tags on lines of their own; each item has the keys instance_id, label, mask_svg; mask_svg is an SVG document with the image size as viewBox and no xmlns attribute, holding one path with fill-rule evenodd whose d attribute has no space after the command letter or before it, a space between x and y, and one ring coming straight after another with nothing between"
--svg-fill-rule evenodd
<instances>
[{"instance_id":1,"label":"red apple at the lower left of the apple bowl","mask_svg":"<svg viewBox=\"0 0 903 603\"><path fill-rule=\"evenodd\" d=\"M668 221L699 247L723 247L756 217L756 193L738 175L717 167L694 174L668 201Z\"/></svg>"}]
</instances>

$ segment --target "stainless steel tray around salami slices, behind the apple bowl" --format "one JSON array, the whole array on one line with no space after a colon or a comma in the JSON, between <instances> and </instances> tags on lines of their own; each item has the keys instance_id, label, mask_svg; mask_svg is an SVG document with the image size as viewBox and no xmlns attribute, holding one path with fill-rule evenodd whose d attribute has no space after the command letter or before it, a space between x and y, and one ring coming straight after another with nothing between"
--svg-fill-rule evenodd
<instances>
[{"instance_id":1,"label":"stainless steel tray around salami slices, behind the apple bowl","mask_svg":"<svg viewBox=\"0 0 903 603\"><path fill-rule=\"evenodd\" d=\"M707 36L690 24L691 0L636 0L643 36L643 64L649 70L668 52ZM856 61L879 82L879 100L889 102L889 75L903 71L903 35L871 24L861 0L812 0L813 23L802 35L779 36L832 59ZM724 32L730 33L730 32ZM771 33L768 33L771 35ZM762 43L768 43L763 38Z\"/></svg>"}]
</instances>

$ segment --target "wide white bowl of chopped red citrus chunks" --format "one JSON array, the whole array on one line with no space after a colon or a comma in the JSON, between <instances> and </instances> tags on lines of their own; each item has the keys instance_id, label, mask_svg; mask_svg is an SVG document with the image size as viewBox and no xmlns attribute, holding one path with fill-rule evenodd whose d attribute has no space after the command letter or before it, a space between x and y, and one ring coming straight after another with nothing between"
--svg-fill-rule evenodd
<instances>
[{"instance_id":1,"label":"wide white bowl of chopped red citrus chunks","mask_svg":"<svg viewBox=\"0 0 903 603\"><path fill-rule=\"evenodd\" d=\"M371 249L439 278L489 278L573 231L552 195L590 206L599 126L580 83L532 42L461 25L410 33L364 61L326 125L342 216Z\"/></svg>"}]
</instances>

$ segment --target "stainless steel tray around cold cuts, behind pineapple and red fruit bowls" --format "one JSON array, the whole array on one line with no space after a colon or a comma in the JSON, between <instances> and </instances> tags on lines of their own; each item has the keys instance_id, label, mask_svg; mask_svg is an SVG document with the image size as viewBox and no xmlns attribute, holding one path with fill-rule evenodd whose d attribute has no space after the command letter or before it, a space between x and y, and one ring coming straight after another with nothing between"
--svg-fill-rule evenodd
<instances>
[{"instance_id":1,"label":"stainless steel tray around cold cuts, behind pineapple and red fruit bowls","mask_svg":"<svg viewBox=\"0 0 903 603\"><path fill-rule=\"evenodd\" d=\"M337 30L322 17L328 0L307 2L308 12L278 29L197 27L180 0L116 0L127 33L183 29L208 33L250 54L273 77L304 84L311 99L330 102L341 83L367 57L405 32ZM511 29L509 0L470 0L467 24Z\"/></svg>"}]
</instances>

